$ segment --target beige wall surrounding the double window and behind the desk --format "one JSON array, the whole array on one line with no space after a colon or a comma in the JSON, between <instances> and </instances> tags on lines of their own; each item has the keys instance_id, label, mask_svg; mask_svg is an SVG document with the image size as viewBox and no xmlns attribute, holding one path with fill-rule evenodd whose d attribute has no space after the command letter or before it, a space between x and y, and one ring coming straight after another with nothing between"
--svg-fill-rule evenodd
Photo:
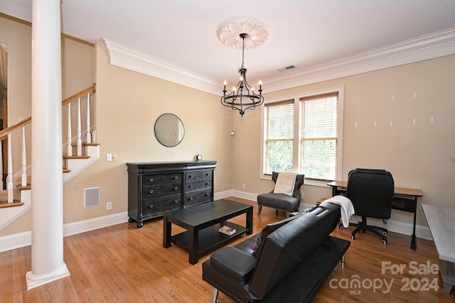
<instances>
[{"instance_id":1,"label":"beige wall surrounding the double window and behind the desk","mask_svg":"<svg viewBox=\"0 0 455 303\"><path fill-rule=\"evenodd\" d=\"M265 97L276 99L343 85L343 180L355 167L384 168L392 172L395 186L422 189L424 197L419 202L455 206L454 83L455 55L451 55ZM259 111L235 117L234 128L233 189L267 192L273 183L259 179ZM321 197L331 197L331 190L304 185L304 194L304 203L314 204ZM412 214L403 211L392 211L392 219L412 224ZM427 225L420 206L417 224Z\"/></svg>"}]
</instances>

